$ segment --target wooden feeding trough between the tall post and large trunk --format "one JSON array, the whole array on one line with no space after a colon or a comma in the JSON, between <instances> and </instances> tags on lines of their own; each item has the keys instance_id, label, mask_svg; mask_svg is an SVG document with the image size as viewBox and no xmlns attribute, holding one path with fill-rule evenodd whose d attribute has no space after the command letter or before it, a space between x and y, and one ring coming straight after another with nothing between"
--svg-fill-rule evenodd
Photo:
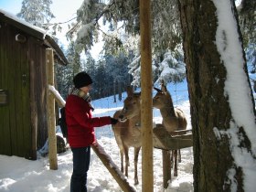
<instances>
[{"instance_id":1,"label":"wooden feeding trough between the tall post and large trunk","mask_svg":"<svg viewBox=\"0 0 256 192\"><path fill-rule=\"evenodd\" d=\"M176 150L193 145L192 130L167 132L163 124L156 124L153 129L154 147L163 150Z\"/></svg>"}]
</instances>

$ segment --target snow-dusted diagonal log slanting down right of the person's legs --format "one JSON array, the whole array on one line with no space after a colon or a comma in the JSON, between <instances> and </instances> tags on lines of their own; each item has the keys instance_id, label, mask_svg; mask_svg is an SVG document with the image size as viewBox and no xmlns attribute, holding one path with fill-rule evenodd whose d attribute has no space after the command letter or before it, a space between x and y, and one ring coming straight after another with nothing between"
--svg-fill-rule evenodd
<instances>
[{"instance_id":1,"label":"snow-dusted diagonal log slanting down right of the person's legs","mask_svg":"<svg viewBox=\"0 0 256 192\"><path fill-rule=\"evenodd\" d=\"M98 144L96 142L94 144L91 144L91 148L93 149L94 153L98 155L103 165L106 166L106 168L109 170L113 178L116 180L116 182L119 184L124 192L136 191L135 187L129 184L126 176L124 176L123 173L119 170L119 167L113 163L112 158L105 153L101 144Z\"/></svg>"}]
</instances>

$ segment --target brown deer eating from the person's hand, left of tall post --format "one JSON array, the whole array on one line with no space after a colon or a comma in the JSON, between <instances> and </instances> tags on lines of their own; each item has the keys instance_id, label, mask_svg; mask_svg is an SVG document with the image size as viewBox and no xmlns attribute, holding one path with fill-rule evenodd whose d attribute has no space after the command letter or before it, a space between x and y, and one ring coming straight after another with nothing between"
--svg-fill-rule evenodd
<instances>
[{"instance_id":1,"label":"brown deer eating from the person's hand, left of tall post","mask_svg":"<svg viewBox=\"0 0 256 192\"><path fill-rule=\"evenodd\" d=\"M121 171L123 172L123 154L125 157L125 176L128 177L129 148L134 147L134 184L139 184L137 165L138 156L142 146L141 142L141 93L133 92L127 88L127 98L123 101L123 110L114 113L113 118L119 119L119 123L112 125L115 140L121 154Z\"/></svg>"}]
</instances>

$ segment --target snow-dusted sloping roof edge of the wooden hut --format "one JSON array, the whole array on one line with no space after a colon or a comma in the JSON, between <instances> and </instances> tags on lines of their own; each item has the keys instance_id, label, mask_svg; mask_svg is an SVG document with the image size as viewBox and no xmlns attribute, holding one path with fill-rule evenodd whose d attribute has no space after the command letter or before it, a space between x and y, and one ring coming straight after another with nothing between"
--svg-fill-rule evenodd
<instances>
[{"instance_id":1,"label":"snow-dusted sloping roof edge of the wooden hut","mask_svg":"<svg viewBox=\"0 0 256 192\"><path fill-rule=\"evenodd\" d=\"M66 59L63 51L59 48L59 45L55 42L53 37L51 37L46 30L33 26L29 23L27 23L24 20L21 20L20 18L16 17L15 15L6 12L5 10L0 8L0 19L4 22L15 26L19 28L20 30L26 32L28 35L37 37L44 41L44 44L49 47L53 48L55 50L55 54L58 56L59 61L67 65L69 63L68 59Z\"/></svg>"}]
</instances>

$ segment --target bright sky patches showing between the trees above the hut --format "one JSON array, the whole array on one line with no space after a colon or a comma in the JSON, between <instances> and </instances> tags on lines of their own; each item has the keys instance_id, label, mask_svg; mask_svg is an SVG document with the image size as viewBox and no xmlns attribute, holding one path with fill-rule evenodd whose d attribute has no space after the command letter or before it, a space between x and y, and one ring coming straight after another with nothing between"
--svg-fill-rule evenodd
<instances>
[{"instance_id":1,"label":"bright sky patches showing between the trees above the hut","mask_svg":"<svg viewBox=\"0 0 256 192\"><path fill-rule=\"evenodd\" d=\"M53 3L50 5L50 10L56 17L51 20L51 23L59 23L68 21L69 19L75 17L77 10L80 8L83 0L52 0L52 2ZM20 12L21 5L22 0L0 0L0 9L3 9L13 15L16 15ZM76 20L74 19L74 21ZM69 31L69 28L67 24L63 24L61 27L63 27L62 32L57 33L57 37L63 44L64 48L67 48L69 43L65 35L66 32ZM93 48L91 48L91 56L94 59L98 58L102 45L102 42L99 42Z\"/></svg>"}]
</instances>

